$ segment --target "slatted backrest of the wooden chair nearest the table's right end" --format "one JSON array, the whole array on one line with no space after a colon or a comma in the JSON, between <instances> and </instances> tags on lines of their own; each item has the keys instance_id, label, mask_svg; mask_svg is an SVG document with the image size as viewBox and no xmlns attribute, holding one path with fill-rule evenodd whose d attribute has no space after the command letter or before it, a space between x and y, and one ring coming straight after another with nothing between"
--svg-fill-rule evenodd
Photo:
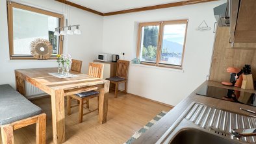
<instances>
[{"instance_id":1,"label":"slatted backrest of the wooden chair nearest the table's right end","mask_svg":"<svg viewBox=\"0 0 256 144\"><path fill-rule=\"evenodd\" d=\"M95 64L90 62L88 75L97 78L103 78L103 64Z\"/></svg>"}]
</instances>

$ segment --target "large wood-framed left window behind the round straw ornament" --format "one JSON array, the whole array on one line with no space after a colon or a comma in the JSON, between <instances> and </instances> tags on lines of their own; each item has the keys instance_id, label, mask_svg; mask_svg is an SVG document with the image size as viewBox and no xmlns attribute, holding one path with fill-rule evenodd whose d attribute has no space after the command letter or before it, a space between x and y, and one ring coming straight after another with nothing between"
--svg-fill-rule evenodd
<instances>
[{"instance_id":1,"label":"large wood-framed left window behind the round straw ornament","mask_svg":"<svg viewBox=\"0 0 256 144\"><path fill-rule=\"evenodd\" d=\"M63 26L63 16L31 6L8 2L8 32L10 59L34 59L30 45L37 38L53 45L51 58L62 54L62 36L55 36L55 28Z\"/></svg>"}]
</instances>

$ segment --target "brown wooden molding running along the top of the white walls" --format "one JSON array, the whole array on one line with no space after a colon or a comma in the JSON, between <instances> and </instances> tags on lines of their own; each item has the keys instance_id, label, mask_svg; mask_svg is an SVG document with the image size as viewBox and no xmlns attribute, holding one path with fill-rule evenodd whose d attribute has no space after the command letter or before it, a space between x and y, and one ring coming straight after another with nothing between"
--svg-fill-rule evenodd
<instances>
[{"instance_id":1,"label":"brown wooden molding running along the top of the white walls","mask_svg":"<svg viewBox=\"0 0 256 144\"><path fill-rule=\"evenodd\" d=\"M132 9L128 9L128 10L120 10L120 11L116 11L116 12L107 12L107 13L98 12L91 8L77 5L75 3L72 3L72 2L66 1L66 0L55 0L55 1L58 1L60 3L65 3L66 5L74 6L76 8L80 8L80 9L86 10L88 12L92 12L99 16L113 16L113 15L117 15L117 14L127 14L127 13L131 13L131 12L142 12L142 11L146 11L146 10L157 10L160 8L170 8L170 7L175 7L175 6L193 5L193 4L207 3L207 2L218 1L218 0L187 0L187 1L179 1L179 2L175 2L175 3L166 3L163 5L146 6L146 7L141 7L141 8L132 8Z\"/></svg>"}]
</instances>

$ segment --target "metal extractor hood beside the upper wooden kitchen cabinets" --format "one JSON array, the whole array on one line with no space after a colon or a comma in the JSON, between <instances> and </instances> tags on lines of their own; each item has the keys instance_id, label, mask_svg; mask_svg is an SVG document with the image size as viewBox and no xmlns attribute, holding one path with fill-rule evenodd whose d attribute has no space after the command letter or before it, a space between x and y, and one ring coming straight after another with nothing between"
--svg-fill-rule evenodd
<instances>
[{"instance_id":1,"label":"metal extractor hood beside the upper wooden kitchen cabinets","mask_svg":"<svg viewBox=\"0 0 256 144\"><path fill-rule=\"evenodd\" d=\"M229 3L213 8L214 16L219 27L229 27Z\"/></svg>"}]
</instances>

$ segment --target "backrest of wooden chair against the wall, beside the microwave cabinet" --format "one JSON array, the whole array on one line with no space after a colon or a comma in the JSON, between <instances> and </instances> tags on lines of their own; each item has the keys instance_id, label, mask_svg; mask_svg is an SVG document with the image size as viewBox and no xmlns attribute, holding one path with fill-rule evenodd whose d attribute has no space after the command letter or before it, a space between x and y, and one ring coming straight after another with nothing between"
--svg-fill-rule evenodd
<instances>
[{"instance_id":1,"label":"backrest of wooden chair against the wall, beside the microwave cabinet","mask_svg":"<svg viewBox=\"0 0 256 144\"><path fill-rule=\"evenodd\" d=\"M116 67L116 76L127 78L130 62L127 60L118 60L118 66Z\"/></svg>"}]
</instances>

